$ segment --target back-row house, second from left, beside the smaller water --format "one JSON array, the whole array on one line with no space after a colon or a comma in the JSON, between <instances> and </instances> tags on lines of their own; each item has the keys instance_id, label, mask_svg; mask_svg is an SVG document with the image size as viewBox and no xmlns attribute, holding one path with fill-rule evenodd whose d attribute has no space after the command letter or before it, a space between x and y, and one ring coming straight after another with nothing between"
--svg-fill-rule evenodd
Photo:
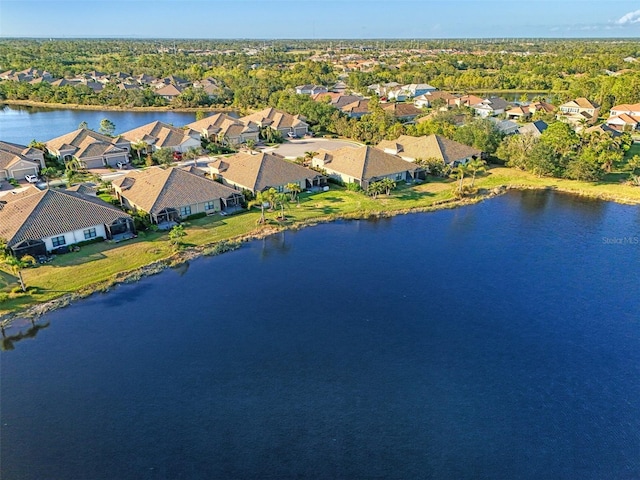
<instances>
[{"instance_id":1,"label":"back-row house, second from left, beside the smaller water","mask_svg":"<svg viewBox=\"0 0 640 480\"><path fill-rule=\"evenodd\" d=\"M128 163L129 142L122 137L108 137L88 128L79 128L71 133L45 142L47 151L63 162L75 158L84 168L115 167Z\"/></svg>"}]
</instances>

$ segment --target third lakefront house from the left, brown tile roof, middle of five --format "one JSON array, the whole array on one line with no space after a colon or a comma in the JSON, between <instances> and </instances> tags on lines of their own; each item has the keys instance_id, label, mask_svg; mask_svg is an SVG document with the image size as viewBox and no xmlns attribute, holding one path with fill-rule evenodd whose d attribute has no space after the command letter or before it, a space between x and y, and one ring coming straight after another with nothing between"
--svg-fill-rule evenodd
<instances>
[{"instance_id":1,"label":"third lakefront house from the left, brown tile roof, middle of five","mask_svg":"<svg viewBox=\"0 0 640 480\"><path fill-rule=\"evenodd\" d=\"M285 160L275 153L238 153L209 163L212 176L225 185L252 193L275 188L287 192L287 184L296 183L301 190L324 185L318 172Z\"/></svg>"}]
</instances>

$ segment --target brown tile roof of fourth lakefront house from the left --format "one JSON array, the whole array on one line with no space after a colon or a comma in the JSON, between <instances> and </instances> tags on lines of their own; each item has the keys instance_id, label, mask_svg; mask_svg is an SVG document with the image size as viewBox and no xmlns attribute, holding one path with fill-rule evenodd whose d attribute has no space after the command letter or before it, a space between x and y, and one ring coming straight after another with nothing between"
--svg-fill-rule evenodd
<instances>
[{"instance_id":1,"label":"brown tile roof of fourth lakefront house from the left","mask_svg":"<svg viewBox=\"0 0 640 480\"><path fill-rule=\"evenodd\" d=\"M370 146L343 147L331 152L320 150L314 158L323 159L327 170L361 181L417 170L415 165Z\"/></svg>"}]
</instances>

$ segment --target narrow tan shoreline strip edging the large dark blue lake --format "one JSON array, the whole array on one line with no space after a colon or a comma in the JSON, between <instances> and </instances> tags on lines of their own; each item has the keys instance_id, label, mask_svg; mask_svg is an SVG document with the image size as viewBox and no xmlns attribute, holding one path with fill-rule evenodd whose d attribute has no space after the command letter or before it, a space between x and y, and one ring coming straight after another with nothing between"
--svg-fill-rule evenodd
<instances>
[{"instance_id":1,"label":"narrow tan shoreline strip edging the large dark blue lake","mask_svg":"<svg viewBox=\"0 0 640 480\"><path fill-rule=\"evenodd\" d=\"M77 300L81 300L90 297L94 293L105 293L112 288L127 283L137 282L145 277L161 273L162 271L179 266L186 262L195 260L203 256L214 256L228 251L233 251L239 248L243 243L253 240L259 240L274 234L277 234L286 230L300 230L302 228L312 227L315 225L331 223L340 220L367 220L371 218L389 218L397 215L407 215L413 213L428 213L438 210L454 209L464 207L468 205L474 205L485 200L495 198L500 195L504 195L510 190L524 191L524 190L539 190L539 191L552 191L558 193L564 193L569 195L575 195L583 198L591 198L594 200L608 201L614 203L620 203L625 205L640 205L640 200L626 198L622 196L615 196L602 193L577 191L569 188L562 188L557 186L538 186L538 185L526 185L526 184L512 184L512 185L498 185L496 187L486 189L481 194L477 194L474 197L468 197L463 199L450 199L434 203L424 207L412 207L407 209L394 209L394 210L382 210L378 212L359 211L350 214L331 214L315 219L303 220L300 222L292 223L290 225L263 225L251 232L242 234L236 237L223 239L216 242L207 243L196 247L188 247L180 250L169 257L157 260L155 262L143 265L142 267L134 268L132 270L118 272L106 280L86 285L78 291L72 293L66 293L60 297L52 300L37 303L31 305L25 309L21 309L15 312L10 312L0 316L0 325L3 331L10 327L31 325L32 320L37 320L40 316L64 308L71 305ZM17 323L18 325L14 325ZM22 325L23 324L23 325Z\"/></svg>"}]
</instances>

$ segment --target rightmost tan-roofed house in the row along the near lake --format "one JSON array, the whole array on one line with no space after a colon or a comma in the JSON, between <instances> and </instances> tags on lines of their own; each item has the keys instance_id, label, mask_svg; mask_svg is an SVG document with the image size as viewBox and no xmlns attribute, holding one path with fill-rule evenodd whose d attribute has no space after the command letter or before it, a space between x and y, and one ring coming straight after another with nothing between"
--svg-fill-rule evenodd
<instances>
[{"instance_id":1,"label":"rightmost tan-roofed house in the row along the near lake","mask_svg":"<svg viewBox=\"0 0 640 480\"><path fill-rule=\"evenodd\" d=\"M482 152L476 148L435 134L422 137L400 135L395 140L383 140L377 147L387 154L397 155L403 161L415 162L419 158L437 158L452 166L482 156Z\"/></svg>"}]
</instances>

